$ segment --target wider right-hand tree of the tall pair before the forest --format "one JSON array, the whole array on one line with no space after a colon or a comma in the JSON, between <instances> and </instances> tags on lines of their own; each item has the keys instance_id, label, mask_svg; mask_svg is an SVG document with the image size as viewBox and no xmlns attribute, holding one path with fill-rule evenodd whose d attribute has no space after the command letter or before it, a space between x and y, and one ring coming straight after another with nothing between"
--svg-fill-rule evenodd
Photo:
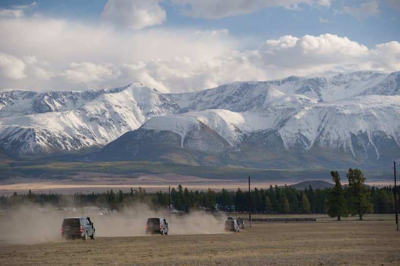
<instances>
[{"instance_id":1,"label":"wider right-hand tree of the tall pair before the forest","mask_svg":"<svg viewBox=\"0 0 400 266\"><path fill-rule=\"evenodd\" d=\"M365 187L364 174L358 169L349 169L347 173L349 179L349 208L352 215L358 214L360 220L366 213L374 210L374 205L369 201L368 197L371 192Z\"/></svg>"}]
</instances>

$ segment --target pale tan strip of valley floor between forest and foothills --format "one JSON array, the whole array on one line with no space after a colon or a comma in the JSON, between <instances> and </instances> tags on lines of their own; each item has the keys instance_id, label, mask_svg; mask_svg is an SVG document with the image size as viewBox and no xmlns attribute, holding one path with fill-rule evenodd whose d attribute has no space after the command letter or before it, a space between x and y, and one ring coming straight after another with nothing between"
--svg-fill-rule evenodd
<instances>
[{"instance_id":1,"label":"pale tan strip of valley floor between forest and foothills","mask_svg":"<svg viewBox=\"0 0 400 266\"><path fill-rule=\"evenodd\" d=\"M324 180L324 179L319 179ZM296 184L304 181L304 179L290 179L290 180L257 180L251 179L250 187L254 189L267 189L270 185L273 187ZM331 179L324 181L332 182ZM248 179L244 177L239 179L213 179L202 178L194 176L184 176L178 174L136 174L135 177L127 177L127 175L113 175L104 173L87 173L80 172L73 178L60 178L60 179L39 179L39 178L21 178L13 177L0 181L0 195L10 196L14 192L28 193L60 193L60 194L74 194L74 193L97 193L107 192L108 190L129 192L131 188L137 189L139 186L148 192L163 191L168 192L168 187L187 187L189 190L248 190ZM342 183L344 184L344 183ZM389 186L394 185L391 180L367 180L366 184L371 186ZM315 188L315 187L314 187Z\"/></svg>"}]
</instances>

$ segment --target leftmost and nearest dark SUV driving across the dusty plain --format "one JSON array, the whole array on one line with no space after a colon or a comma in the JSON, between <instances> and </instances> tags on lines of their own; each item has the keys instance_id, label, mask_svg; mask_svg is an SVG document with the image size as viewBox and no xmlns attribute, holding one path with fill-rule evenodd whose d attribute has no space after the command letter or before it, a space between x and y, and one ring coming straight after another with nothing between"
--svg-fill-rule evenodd
<instances>
[{"instance_id":1,"label":"leftmost and nearest dark SUV driving across the dusty plain","mask_svg":"<svg viewBox=\"0 0 400 266\"><path fill-rule=\"evenodd\" d=\"M91 239L96 237L93 222L90 221L89 217L71 217L65 218L61 225L61 236L63 239L71 238L83 238L88 240L88 236Z\"/></svg>"}]
</instances>

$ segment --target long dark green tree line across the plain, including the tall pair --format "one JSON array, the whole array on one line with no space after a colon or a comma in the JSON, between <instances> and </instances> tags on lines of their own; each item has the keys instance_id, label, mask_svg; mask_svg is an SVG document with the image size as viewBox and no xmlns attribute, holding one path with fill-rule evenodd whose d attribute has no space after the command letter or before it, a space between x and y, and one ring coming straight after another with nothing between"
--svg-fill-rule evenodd
<instances>
[{"instance_id":1,"label":"long dark green tree line across the plain, including the tall pair","mask_svg":"<svg viewBox=\"0 0 400 266\"><path fill-rule=\"evenodd\" d=\"M269 186L267 189L250 191L250 209L252 213L327 213L331 217L347 217L349 215L362 216L368 213L394 213L394 188L369 187L364 184L365 177L358 169L349 169L346 174L349 184L342 186L337 172L331 172L333 188L313 189L311 185L304 190L294 187ZM397 193L400 189L397 188ZM190 212L193 209L206 208L210 211L248 211L248 191L238 188L236 191L192 191L183 188L180 184L172 188L170 193L171 205L178 211ZM26 203L36 203L42 206L50 204L55 207L83 207L98 206L110 210L122 210L143 203L152 208L165 208L169 205L168 192L147 192L139 187L137 190L124 193L113 190L103 193L63 195L54 193L27 194L14 193L12 196L0 197L0 208L14 208ZM399 200L397 202L400 209Z\"/></svg>"}]
</instances>

